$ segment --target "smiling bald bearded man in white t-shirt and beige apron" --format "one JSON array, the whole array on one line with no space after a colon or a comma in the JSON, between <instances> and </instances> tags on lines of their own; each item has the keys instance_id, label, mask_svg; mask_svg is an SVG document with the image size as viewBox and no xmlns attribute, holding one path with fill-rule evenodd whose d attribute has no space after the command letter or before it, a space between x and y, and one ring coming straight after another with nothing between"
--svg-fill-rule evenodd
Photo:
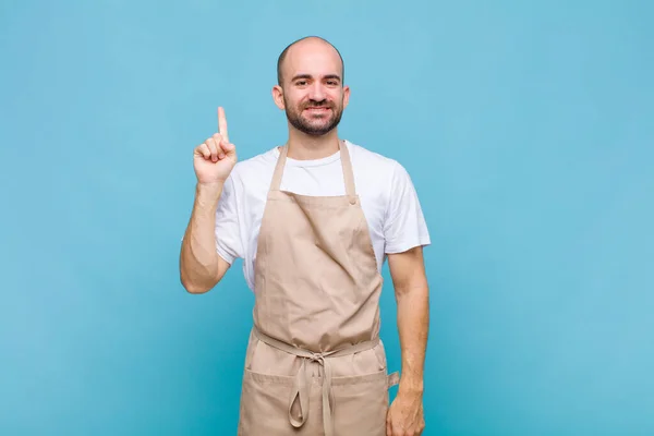
<instances>
[{"instance_id":1,"label":"smiling bald bearded man in white t-shirt and beige apron","mask_svg":"<svg viewBox=\"0 0 654 436\"><path fill-rule=\"evenodd\" d=\"M218 109L218 132L194 150L180 255L189 292L209 291L242 258L255 295L238 434L420 435L429 235L416 192L398 161L339 138L350 88L332 45L294 41L277 74L272 100L286 111L288 141L238 162ZM388 372L379 339L385 261L401 377Z\"/></svg>"}]
</instances>

